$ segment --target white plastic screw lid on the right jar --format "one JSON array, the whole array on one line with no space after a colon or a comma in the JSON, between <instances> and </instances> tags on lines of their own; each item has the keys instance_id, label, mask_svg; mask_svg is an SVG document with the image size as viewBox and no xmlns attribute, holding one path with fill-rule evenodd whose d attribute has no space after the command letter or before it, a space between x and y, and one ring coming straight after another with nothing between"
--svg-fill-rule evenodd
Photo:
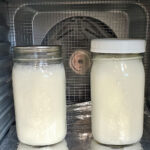
<instances>
[{"instance_id":1,"label":"white plastic screw lid on the right jar","mask_svg":"<svg viewBox=\"0 0 150 150\"><path fill-rule=\"evenodd\" d=\"M146 41L140 39L94 39L91 52L94 53L144 53Z\"/></svg>"}]
</instances>

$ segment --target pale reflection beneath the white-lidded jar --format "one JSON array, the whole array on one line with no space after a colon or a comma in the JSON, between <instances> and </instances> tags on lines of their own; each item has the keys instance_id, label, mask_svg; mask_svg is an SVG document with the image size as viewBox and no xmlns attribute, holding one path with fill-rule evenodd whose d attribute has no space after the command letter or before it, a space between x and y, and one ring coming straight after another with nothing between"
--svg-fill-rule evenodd
<instances>
[{"instance_id":1,"label":"pale reflection beneath the white-lidded jar","mask_svg":"<svg viewBox=\"0 0 150 150\"><path fill-rule=\"evenodd\" d=\"M144 150L140 143L136 143L129 146L106 146L97 143L92 140L91 142L91 150Z\"/></svg>"}]
</instances>

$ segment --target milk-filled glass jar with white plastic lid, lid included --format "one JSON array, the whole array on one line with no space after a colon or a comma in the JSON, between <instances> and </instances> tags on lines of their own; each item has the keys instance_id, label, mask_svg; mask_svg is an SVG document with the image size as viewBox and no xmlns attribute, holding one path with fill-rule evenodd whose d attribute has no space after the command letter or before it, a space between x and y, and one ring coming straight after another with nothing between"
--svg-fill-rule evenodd
<instances>
[{"instance_id":1,"label":"milk-filled glass jar with white plastic lid, lid included","mask_svg":"<svg viewBox=\"0 0 150 150\"><path fill-rule=\"evenodd\" d=\"M145 40L91 42L92 133L110 145L138 142L143 134Z\"/></svg>"}]
</instances>

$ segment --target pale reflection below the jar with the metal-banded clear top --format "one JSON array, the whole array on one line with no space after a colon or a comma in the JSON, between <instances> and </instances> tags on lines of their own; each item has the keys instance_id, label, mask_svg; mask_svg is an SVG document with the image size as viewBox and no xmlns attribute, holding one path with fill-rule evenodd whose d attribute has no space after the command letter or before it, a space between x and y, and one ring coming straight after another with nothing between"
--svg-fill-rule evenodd
<instances>
[{"instance_id":1,"label":"pale reflection below the jar with the metal-banded clear top","mask_svg":"<svg viewBox=\"0 0 150 150\"><path fill-rule=\"evenodd\" d=\"M66 141L64 140L58 144L46 147L32 147L23 143L19 143L17 150L68 150L68 147Z\"/></svg>"}]
</instances>

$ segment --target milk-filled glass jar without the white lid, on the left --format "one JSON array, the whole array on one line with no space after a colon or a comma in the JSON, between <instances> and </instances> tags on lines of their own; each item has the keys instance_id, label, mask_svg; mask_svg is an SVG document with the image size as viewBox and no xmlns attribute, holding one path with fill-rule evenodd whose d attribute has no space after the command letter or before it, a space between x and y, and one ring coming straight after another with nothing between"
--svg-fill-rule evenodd
<instances>
[{"instance_id":1,"label":"milk-filled glass jar without the white lid, on the left","mask_svg":"<svg viewBox=\"0 0 150 150\"><path fill-rule=\"evenodd\" d=\"M66 79L60 47L15 47L12 76L19 140L35 146L63 140Z\"/></svg>"}]
</instances>

